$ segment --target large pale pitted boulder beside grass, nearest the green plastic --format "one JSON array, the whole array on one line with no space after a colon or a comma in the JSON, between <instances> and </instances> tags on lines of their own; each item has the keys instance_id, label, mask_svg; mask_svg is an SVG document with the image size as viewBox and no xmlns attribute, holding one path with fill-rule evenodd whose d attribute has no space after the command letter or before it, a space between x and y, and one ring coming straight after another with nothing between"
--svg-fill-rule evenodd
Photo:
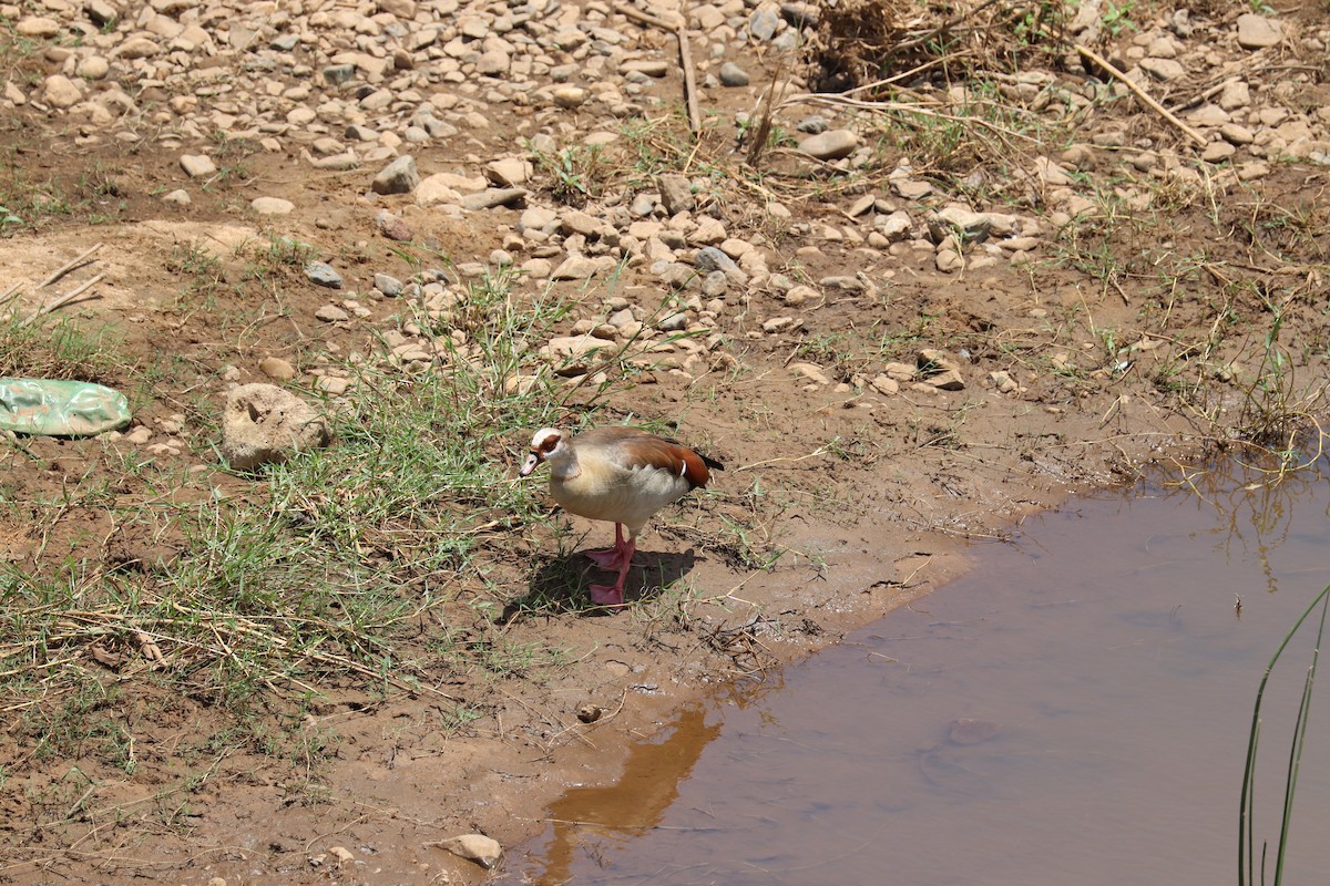
<instances>
[{"instance_id":1,"label":"large pale pitted boulder beside grass, nearest the green plastic","mask_svg":"<svg viewBox=\"0 0 1330 886\"><path fill-rule=\"evenodd\" d=\"M327 420L277 385L241 385L226 396L221 453L234 470L282 462L297 452L326 446L330 438Z\"/></svg>"}]
</instances>

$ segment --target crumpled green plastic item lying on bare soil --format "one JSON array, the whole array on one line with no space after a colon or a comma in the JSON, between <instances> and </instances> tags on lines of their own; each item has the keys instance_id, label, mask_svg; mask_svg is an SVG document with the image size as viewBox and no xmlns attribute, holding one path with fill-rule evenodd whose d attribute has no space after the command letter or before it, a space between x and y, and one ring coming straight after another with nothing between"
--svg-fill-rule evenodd
<instances>
[{"instance_id":1,"label":"crumpled green plastic item lying on bare soil","mask_svg":"<svg viewBox=\"0 0 1330 886\"><path fill-rule=\"evenodd\" d=\"M125 395L90 381L0 379L0 429L90 437L129 424Z\"/></svg>"}]
</instances>

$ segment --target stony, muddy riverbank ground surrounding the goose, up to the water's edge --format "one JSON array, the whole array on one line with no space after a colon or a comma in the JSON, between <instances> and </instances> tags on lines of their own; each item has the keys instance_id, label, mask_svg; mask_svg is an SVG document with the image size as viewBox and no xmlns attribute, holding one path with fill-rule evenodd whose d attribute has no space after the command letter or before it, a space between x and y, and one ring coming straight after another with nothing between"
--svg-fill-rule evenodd
<instances>
[{"instance_id":1,"label":"stony, muddy riverbank ground surrounding the goose, up to the water's edge","mask_svg":"<svg viewBox=\"0 0 1330 886\"><path fill-rule=\"evenodd\" d=\"M672 707L963 543L1150 462L1294 464L1330 353L1327 41L1323 5L1217 0L0 4L0 375L134 405L7 444L0 879L480 882L440 841L513 845ZM235 638L295 640L262 607L215 643L138 607L261 523L321 526L359 481L319 460L472 371L485 396L391 433L481 413L452 442L507 498L440 480L321 549L414 620L200 692ZM325 410L301 464L343 466L294 493L229 468L246 383ZM606 527L512 481L537 421L728 464L644 539L628 611L581 590ZM201 555L233 502L267 517ZM427 531L467 557L406 569ZM355 608L338 569L321 623ZM39 587L64 603L35 643Z\"/></svg>"}]
</instances>

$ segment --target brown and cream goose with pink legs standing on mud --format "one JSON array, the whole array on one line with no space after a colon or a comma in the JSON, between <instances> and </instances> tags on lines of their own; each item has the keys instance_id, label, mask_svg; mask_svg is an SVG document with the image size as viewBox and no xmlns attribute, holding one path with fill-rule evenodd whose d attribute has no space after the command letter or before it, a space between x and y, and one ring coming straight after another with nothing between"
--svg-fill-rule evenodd
<instances>
[{"instance_id":1,"label":"brown and cream goose with pink legs standing on mud","mask_svg":"<svg viewBox=\"0 0 1330 886\"><path fill-rule=\"evenodd\" d=\"M600 606L622 606L637 534L650 515L705 486L712 477L708 469L725 469L713 458L640 428L596 428L576 437L541 428L531 438L521 476L531 476L543 461L551 468L549 491L564 510L614 523L614 546L587 551L601 569L618 570L613 584L591 586L591 599Z\"/></svg>"}]
</instances>

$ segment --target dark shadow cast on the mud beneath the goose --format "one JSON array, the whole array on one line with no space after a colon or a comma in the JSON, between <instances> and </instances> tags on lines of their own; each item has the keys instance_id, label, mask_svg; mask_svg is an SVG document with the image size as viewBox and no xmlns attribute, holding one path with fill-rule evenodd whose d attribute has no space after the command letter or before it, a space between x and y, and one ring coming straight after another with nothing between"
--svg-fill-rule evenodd
<instances>
[{"instance_id":1,"label":"dark shadow cast on the mud beneath the goose","mask_svg":"<svg viewBox=\"0 0 1330 886\"><path fill-rule=\"evenodd\" d=\"M637 551L624 580L624 603L632 604L658 596L661 591L693 570L693 549L673 553ZM499 616L500 623L521 615L563 614L613 615L621 607L591 602L591 584L609 584L614 573L597 567L583 553L544 558L531 576L527 592L509 600Z\"/></svg>"}]
</instances>

